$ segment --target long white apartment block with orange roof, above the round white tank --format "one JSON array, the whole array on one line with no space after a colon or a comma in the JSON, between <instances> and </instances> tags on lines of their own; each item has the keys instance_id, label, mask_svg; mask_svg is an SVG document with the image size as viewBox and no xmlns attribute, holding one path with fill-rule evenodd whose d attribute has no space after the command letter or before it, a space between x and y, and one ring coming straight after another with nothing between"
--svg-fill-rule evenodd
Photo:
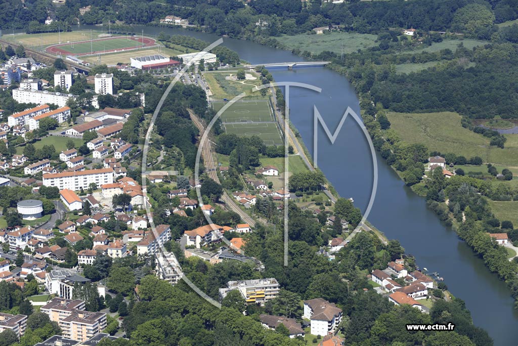
<instances>
[{"instance_id":1,"label":"long white apartment block with orange roof, above the round white tank","mask_svg":"<svg viewBox=\"0 0 518 346\"><path fill-rule=\"evenodd\" d=\"M70 189L77 191L81 187L88 189L91 183L95 183L97 186L113 183L113 170L111 168L103 168L43 175L44 186L57 186L60 190Z\"/></svg>"}]
</instances>

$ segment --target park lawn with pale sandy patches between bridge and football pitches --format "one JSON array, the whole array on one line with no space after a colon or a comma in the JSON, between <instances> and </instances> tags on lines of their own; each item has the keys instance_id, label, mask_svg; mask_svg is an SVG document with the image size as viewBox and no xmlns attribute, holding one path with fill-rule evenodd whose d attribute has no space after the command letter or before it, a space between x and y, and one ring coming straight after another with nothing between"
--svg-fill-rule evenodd
<instances>
[{"instance_id":1,"label":"park lawn with pale sandy patches between bridge and football pitches","mask_svg":"<svg viewBox=\"0 0 518 346\"><path fill-rule=\"evenodd\" d=\"M261 94L256 88L262 84L259 75L251 71L247 71L246 73L255 79L230 79L229 77L235 76L236 73L228 71L207 72L203 75L207 81L207 84L209 85L210 92L212 93L211 98L213 100L231 100L242 92L246 93L247 96L260 96Z\"/></svg>"}]
</instances>

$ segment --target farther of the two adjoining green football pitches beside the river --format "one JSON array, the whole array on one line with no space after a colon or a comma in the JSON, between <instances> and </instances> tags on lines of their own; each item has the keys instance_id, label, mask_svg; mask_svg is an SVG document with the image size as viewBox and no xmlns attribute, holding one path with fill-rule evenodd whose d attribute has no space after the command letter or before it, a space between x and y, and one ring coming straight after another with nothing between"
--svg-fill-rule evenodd
<instances>
[{"instance_id":1,"label":"farther of the two adjoining green football pitches beside the river","mask_svg":"<svg viewBox=\"0 0 518 346\"><path fill-rule=\"evenodd\" d=\"M216 101L211 105L216 112L219 112L225 102ZM237 101L223 112L220 119L222 122L275 121L272 113L268 100Z\"/></svg>"}]
</instances>

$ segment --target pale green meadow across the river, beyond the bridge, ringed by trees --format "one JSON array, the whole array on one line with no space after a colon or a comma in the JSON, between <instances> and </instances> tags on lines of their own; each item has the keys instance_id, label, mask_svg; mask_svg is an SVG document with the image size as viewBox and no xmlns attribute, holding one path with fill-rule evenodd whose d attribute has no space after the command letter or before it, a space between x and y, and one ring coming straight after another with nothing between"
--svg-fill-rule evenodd
<instances>
[{"instance_id":1,"label":"pale green meadow across the river, beyond the bridge, ringed by trees","mask_svg":"<svg viewBox=\"0 0 518 346\"><path fill-rule=\"evenodd\" d=\"M332 32L321 35L299 34L279 37L280 43L290 49L308 50L311 53L321 53L325 50L341 54L352 53L358 49L376 46L377 35Z\"/></svg>"}]
</instances>

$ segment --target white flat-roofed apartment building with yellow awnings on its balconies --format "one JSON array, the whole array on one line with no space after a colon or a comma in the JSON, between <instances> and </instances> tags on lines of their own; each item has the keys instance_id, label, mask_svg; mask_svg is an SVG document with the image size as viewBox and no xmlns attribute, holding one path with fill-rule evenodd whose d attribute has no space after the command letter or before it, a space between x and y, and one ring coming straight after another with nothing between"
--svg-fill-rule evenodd
<instances>
[{"instance_id":1,"label":"white flat-roofed apartment building with yellow awnings on its balconies","mask_svg":"<svg viewBox=\"0 0 518 346\"><path fill-rule=\"evenodd\" d=\"M227 287L220 288L220 298L223 299L231 290L237 289L248 303L264 303L274 299L279 294L279 283L275 278L228 281Z\"/></svg>"}]
</instances>

